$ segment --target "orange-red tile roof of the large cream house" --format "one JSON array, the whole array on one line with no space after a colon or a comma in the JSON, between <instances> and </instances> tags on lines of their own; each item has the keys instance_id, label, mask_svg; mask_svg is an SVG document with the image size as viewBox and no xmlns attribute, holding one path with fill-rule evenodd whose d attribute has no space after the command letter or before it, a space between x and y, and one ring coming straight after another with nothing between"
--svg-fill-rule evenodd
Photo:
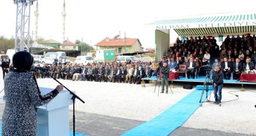
<instances>
[{"instance_id":1,"label":"orange-red tile roof of the large cream house","mask_svg":"<svg viewBox=\"0 0 256 136\"><path fill-rule=\"evenodd\" d=\"M136 41L139 41L139 44L141 46L140 40L138 38L126 38L125 42L123 42L123 39L103 39L99 43L97 43L96 47L106 47L106 46L132 46Z\"/></svg>"}]
</instances>

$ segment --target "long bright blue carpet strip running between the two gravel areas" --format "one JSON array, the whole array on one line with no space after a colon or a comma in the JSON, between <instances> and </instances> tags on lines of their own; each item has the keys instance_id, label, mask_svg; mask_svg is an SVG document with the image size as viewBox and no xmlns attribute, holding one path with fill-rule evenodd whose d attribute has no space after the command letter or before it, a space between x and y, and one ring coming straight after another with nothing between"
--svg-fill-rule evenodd
<instances>
[{"instance_id":1,"label":"long bright blue carpet strip running between the two gravel areas","mask_svg":"<svg viewBox=\"0 0 256 136\"><path fill-rule=\"evenodd\" d=\"M175 105L166 109L162 114L145 122L124 135L168 135L180 127L199 108L202 90L194 90ZM205 98L205 94L203 98Z\"/></svg>"}]
</instances>

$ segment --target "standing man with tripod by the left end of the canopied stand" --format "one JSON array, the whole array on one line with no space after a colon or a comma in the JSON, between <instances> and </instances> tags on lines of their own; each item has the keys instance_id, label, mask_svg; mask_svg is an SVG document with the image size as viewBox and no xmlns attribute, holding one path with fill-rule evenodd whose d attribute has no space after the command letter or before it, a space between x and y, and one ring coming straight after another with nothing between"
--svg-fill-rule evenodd
<instances>
[{"instance_id":1,"label":"standing man with tripod by the left end of the canopied stand","mask_svg":"<svg viewBox=\"0 0 256 136\"><path fill-rule=\"evenodd\" d=\"M168 94L168 87L169 87L169 66L167 66L167 63L163 63L163 67L160 67L161 73L162 73L162 92L164 92L164 85L166 86L166 94Z\"/></svg>"}]
</instances>

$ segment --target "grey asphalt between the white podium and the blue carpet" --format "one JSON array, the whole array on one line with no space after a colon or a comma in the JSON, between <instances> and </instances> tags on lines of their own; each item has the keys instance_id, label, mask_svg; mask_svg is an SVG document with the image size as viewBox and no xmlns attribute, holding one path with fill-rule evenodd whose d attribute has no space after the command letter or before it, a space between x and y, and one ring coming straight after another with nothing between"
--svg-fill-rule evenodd
<instances>
[{"instance_id":1,"label":"grey asphalt between the white podium and the blue carpet","mask_svg":"<svg viewBox=\"0 0 256 136\"><path fill-rule=\"evenodd\" d=\"M72 113L70 111L71 131L73 131ZM76 131L87 135L121 135L141 123L143 122L76 111Z\"/></svg>"}]
</instances>

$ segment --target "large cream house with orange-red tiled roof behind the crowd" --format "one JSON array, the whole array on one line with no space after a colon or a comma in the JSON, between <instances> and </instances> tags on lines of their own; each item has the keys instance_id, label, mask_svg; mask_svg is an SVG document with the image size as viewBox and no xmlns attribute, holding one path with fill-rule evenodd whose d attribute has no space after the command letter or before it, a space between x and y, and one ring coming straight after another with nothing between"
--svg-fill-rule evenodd
<instances>
[{"instance_id":1,"label":"large cream house with orange-red tiled roof behind the crowd","mask_svg":"<svg viewBox=\"0 0 256 136\"><path fill-rule=\"evenodd\" d=\"M144 49L138 38L110 39L109 37L106 37L95 46L97 47L97 50L115 49L116 53L141 52Z\"/></svg>"}]
</instances>

